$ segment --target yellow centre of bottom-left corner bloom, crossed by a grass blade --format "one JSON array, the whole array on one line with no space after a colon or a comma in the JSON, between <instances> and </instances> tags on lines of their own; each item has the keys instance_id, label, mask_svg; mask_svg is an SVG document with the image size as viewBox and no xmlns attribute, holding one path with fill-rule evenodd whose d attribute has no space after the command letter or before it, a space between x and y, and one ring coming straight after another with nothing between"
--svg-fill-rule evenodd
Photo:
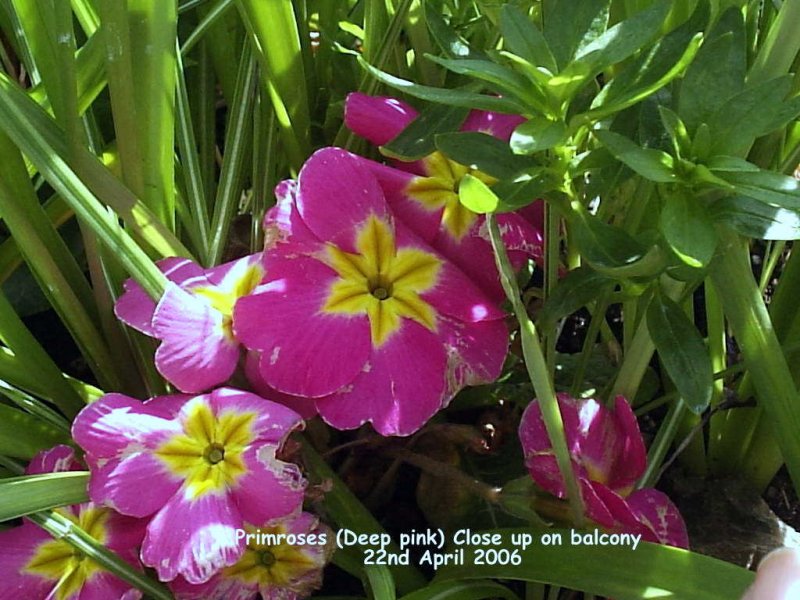
<instances>
[{"instance_id":1,"label":"yellow centre of bottom-left corner bloom, crossed by a grass blade","mask_svg":"<svg viewBox=\"0 0 800 600\"><path fill-rule=\"evenodd\" d=\"M106 508L87 508L76 518L71 511L59 511L101 544L106 541L106 521L109 510ZM100 565L88 558L64 540L52 540L41 544L33 557L23 567L24 571L46 579L57 580L48 598L65 600L77 594L89 579L98 571Z\"/></svg>"}]
</instances>

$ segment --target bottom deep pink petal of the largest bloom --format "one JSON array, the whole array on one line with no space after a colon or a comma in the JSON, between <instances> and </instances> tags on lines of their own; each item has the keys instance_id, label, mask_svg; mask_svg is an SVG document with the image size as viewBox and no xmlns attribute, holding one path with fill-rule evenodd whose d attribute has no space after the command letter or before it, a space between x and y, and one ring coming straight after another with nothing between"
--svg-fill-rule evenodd
<instances>
[{"instance_id":1,"label":"bottom deep pink petal of the largest bloom","mask_svg":"<svg viewBox=\"0 0 800 600\"><path fill-rule=\"evenodd\" d=\"M373 351L346 388L317 400L322 418L338 429L371 421L382 435L410 435L446 400L447 357L441 340L415 321Z\"/></svg>"}]
</instances>

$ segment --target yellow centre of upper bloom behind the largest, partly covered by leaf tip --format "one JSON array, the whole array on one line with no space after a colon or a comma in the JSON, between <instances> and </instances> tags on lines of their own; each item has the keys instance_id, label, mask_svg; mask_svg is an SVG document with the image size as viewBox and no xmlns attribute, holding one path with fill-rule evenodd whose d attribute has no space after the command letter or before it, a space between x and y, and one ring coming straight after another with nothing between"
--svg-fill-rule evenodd
<instances>
[{"instance_id":1,"label":"yellow centre of upper bloom behind the largest, partly covered by leaf tip","mask_svg":"<svg viewBox=\"0 0 800 600\"><path fill-rule=\"evenodd\" d=\"M438 151L422 161L428 176L415 177L406 188L406 193L429 210L444 208L442 226L460 241L478 218L476 213L458 201L458 187L464 175L472 175L486 185L493 185L497 180L482 171L452 161Z\"/></svg>"}]
</instances>

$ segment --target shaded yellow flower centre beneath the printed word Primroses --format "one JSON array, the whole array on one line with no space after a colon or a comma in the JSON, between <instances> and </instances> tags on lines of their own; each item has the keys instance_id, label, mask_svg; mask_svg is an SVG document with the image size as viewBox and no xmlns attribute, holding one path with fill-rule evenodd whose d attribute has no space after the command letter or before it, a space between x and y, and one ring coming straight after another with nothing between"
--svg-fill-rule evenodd
<instances>
[{"instance_id":1,"label":"shaded yellow flower centre beneath the printed word Primroses","mask_svg":"<svg viewBox=\"0 0 800 600\"><path fill-rule=\"evenodd\" d=\"M255 529L245 527L247 533ZM308 571L319 568L314 557L309 556L302 546L286 543L286 528L282 525L258 530L262 539L273 534L281 541L277 544L250 542L235 565L223 569L223 577L236 577L248 584L258 583L260 587L289 587Z\"/></svg>"}]
</instances>

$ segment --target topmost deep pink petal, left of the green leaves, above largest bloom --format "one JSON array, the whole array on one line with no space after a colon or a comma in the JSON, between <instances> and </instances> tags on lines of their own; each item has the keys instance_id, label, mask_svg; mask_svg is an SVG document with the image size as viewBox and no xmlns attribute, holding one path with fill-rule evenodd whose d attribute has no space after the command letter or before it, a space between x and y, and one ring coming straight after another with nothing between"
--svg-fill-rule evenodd
<instances>
[{"instance_id":1,"label":"topmost deep pink petal, left of the green leaves, above largest bloom","mask_svg":"<svg viewBox=\"0 0 800 600\"><path fill-rule=\"evenodd\" d=\"M353 92L344 104L345 125L376 146L396 138L416 117L416 110L395 98Z\"/></svg>"}]
</instances>

